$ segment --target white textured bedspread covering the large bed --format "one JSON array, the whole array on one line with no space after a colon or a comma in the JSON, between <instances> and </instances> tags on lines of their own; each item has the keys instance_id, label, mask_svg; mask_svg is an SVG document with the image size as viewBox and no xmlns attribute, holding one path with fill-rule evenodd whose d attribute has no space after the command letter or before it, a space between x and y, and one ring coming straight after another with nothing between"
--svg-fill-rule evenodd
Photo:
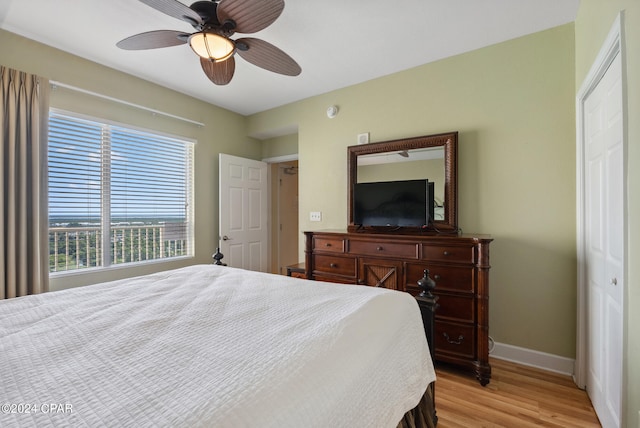
<instances>
[{"instance_id":1,"label":"white textured bedspread covering the large bed","mask_svg":"<svg viewBox=\"0 0 640 428\"><path fill-rule=\"evenodd\" d=\"M396 291L199 265L0 301L1 427L392 427L434 380Z\"/></svg>"}]
</instances>

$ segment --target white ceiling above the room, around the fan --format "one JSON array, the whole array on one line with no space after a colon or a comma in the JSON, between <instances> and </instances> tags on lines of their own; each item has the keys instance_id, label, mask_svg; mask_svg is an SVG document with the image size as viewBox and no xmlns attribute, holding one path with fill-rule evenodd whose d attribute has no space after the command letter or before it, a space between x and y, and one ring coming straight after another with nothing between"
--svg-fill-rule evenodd
<instances>
[{"instance_id":1,"label":"white ceiling above the room, around the fan","mask_svg":"<svg viewBox=\"0 0 640 428\"><path fill-rule=\"evenodd\" d=\"M578 5L579 0L286 0L282 15L252 37L284 50L302 73L282 76L236 56L227 86L209 81L188 45L117 48L119 40L145 31L193 31L137 0L0 0L0 28L248 115L572 22Z\"/></svg>"}]
</instances>

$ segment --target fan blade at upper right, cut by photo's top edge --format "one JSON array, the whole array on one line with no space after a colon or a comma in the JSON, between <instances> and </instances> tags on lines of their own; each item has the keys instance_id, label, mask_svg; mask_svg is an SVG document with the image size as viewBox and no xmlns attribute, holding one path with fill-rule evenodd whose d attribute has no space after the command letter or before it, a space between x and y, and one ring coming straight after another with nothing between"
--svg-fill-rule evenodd
<instances>
[{"instance_id":1,"label":"fan blade at upper right, cut by photo's top edge","mask_svg":"<svg viewBox=\"0 0 640 428\"><path fill-rule=\"evenodd\" d=\"M284 9L284 0L222 0L218 4L218 21L236 23L238 33L255 33L267 28Z\"/></svg>"}]
</instances>

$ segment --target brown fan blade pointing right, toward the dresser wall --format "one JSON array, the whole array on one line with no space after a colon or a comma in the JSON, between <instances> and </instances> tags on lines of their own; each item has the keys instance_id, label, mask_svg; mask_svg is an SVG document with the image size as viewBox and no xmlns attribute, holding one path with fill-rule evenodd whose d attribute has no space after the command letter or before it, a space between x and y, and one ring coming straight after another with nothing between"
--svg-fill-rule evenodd
<instances>
[{"instance_id":1,"label":"brown fan blade pointing right, toward the dresser wall","mask_svg":"<svg viewBox=\"0 0 640 428\"><path fill-rule=\"evenodd\" d=\"M271 43L253 37L236 40L236 52L253 65L286 76L302 72L298 63Z\"/></svg>"}]
</instances>

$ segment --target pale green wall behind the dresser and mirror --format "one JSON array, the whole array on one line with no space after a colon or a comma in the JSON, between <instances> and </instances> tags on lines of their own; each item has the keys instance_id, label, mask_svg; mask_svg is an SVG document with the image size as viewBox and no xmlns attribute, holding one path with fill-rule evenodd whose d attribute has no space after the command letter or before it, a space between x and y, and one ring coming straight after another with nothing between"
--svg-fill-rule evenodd
<instances>
[{"instance_id":1,"label":"pale green wall behind the dresser and mirror","mask_svg":"<svg viewBox=\"0 0 640 428\"><path fill-rule=\"evenodd\" d=\"M249 134L297 124L300 228L314 230L346 226L357 134L459 131L459 224L495 239L490 335L574 358L574 61L568 24L250 116Z\"/></svg>"}]
</instances>

